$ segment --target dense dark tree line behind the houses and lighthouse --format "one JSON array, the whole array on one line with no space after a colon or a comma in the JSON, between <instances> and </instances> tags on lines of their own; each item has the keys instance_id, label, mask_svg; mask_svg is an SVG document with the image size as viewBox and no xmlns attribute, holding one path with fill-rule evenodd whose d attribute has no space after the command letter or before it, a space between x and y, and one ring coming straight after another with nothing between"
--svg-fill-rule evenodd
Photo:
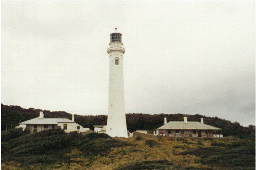
<instances>
[{"instance_id":1,"label":"dense dark tree line behind the houses and lighthouse","mask_svg":"<svg viewBox=\"0 0 256 170\"><path fill-rule=\"evenodd\" d=\"M6 129L6 124L12 124L15 127L22 121L33 119L39 116L39 111L44 112L45 118L67 118L72 119L72 115L65 111L49 111L40 109L24 109L20 106L8 106L1 104L1 130ZM130 132L140 130L154 130L164 124L164 118L167 121L183 121L183 117L188 117L188 121L200 121L200 118L204 119L204 123L219 127L222 129L224 136L239 136L255 137L255 126L243 127L238 122L232 123L229 120L219 119L218 117L206 117L199 114L185 115L185 114L142 114L142 113L128 113L126 114L127 127ZM90 127L93 129L93 125L106 125L106 115L75 115L75 121L81 124L83 127ZM10 128L10 127L9 127Z\"/></svg>"}]
</instances>

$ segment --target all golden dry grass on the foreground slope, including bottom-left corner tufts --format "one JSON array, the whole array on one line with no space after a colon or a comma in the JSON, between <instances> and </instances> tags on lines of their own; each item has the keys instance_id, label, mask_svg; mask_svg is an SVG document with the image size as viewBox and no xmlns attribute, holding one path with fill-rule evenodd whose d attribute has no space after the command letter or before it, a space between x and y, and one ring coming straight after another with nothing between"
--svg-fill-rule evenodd
<instances>
[{"instance_id":1,"label":"all golden dry grass on the foreground slope, including bottom-left corner tufts","mask_svg":"<svg viewBox=\"0 0 256 170\"><path fill-rule=\"evenodd\" d=\"M123 147L111 148L110 153L106 156L87 157L79 149L73 149L64 156L69 158L69 162L62 164L54 164L44 167L49 170L113 170L121 165L131 162L139 161L153 161L153 160L167 160L173 163L170 169L211 169L208 165L201 163L201 158L195 155L185 154L185 151L191 149L198 149L202 147L211 147L215 140L201 140L199 144L198 139L171 139L168 137L154 139L160 143L157 146L149 146L146 144L147 140L152 138L143 136L141 140L135 138L117 138L129 145ZM232 143L229 141L222 141L223 143ZM2 164L2 170L21 170L20 165L14 162L10 164ZM15 169L17 168L17 169ZM32 166L29 167L33 169ZM27 168L27 169L29 169Z\"/></svg>"}]
</instances>

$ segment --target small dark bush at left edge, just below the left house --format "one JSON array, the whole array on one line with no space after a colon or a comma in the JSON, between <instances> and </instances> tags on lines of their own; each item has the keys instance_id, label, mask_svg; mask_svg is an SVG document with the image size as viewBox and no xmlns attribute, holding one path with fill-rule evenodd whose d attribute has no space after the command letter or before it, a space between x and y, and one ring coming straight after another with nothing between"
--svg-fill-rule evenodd
<instances>
[{"instance_id":1,"label":"small dark bush at left edge, just below the left house","mask_svg":"<svg viewBox=\"0 0 256 170\"><path fill-rule=\"evenodd\" d=\"M8 131L1 132L1 142L7 142L11 139L17 138L29 134L31 131L27 128L23 130L22 128L14 128Z\"/></svg>"}]
</instances>

